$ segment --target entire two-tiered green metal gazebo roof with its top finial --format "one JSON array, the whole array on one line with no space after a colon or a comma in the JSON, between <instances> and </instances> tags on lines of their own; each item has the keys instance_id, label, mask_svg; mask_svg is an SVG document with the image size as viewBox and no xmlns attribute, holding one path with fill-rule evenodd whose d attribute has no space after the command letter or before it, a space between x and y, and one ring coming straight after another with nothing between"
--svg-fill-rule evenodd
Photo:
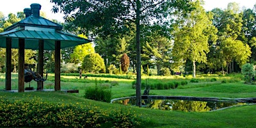
<instances>
[{"instance_id":1,"label":"entire two-tiered green metal gazebo roof with its top finial","mask_svg":"<svg viewBox=\"0 0 256 128\"><path fill-rule=\"evenodd\" d=\"M41 5L31 4L32 15L20 20L0 33L0 47L6 47L6 38L12 38L12 48L19 48L19 38L25 39L25 49L38 49L38 40L44 40L45 50L54 50L55 41L61 42L61 49L92 42L61 31L60 24L39 16ZM26 10L27 9L27 10ZM29 8L24 10L28 11Z\"/></svg>"}]
</instances>

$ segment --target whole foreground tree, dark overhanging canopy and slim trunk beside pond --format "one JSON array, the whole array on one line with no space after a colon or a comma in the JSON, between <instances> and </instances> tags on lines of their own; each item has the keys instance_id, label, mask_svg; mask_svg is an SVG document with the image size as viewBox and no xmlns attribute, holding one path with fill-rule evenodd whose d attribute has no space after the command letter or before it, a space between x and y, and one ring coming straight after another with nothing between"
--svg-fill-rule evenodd
<instances>
[{"instance_id":1,"label":"whole foreground tree, dark overhanging canopy and slim trunk beside pond","mask_svg":"<svg viewBox=\"0 0 256 128\"><path fill-rule=\"evenodd\" d=\"M141 24L148 24L155 18L163 18L166 16L163 15L166 10L184 8L188 1L190 0L51 0L55 4L52 8L54 12L61 9L66 20L67 17L72 17L72 22L83 28L85 33L114 37L118 33L127 33L129 27L136 24L136 106L141 106Z\"/></svg>"}]
</instances>

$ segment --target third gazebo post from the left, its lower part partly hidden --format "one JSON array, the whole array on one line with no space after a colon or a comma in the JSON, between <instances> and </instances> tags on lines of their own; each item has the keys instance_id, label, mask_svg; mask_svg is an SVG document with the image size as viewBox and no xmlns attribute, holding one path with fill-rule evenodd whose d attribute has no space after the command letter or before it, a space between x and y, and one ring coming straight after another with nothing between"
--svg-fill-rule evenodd
<instances>
[{"instance_id":1,"label":"third gazebo post from the left, its lower part partly hidden","mask_svg":"<svg viewBox=\"0 0 256 128\"><path fill-rule=\"evenodd\" d=\"M44 40L39 40L39 49L38 49L38 63L37 71L41 76L44 76ZM38 86L41 90L44 90L44 82L38 81Z\"/></svg>"}]
</instances>

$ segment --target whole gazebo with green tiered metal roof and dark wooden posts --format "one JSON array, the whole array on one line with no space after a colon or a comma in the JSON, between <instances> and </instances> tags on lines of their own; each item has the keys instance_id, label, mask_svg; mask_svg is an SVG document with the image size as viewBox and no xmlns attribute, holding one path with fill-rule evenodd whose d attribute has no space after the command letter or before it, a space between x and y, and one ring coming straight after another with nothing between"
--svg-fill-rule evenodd
<instances>
[{"instance_id":1,"label":"whole gazebo with green tiered metal roof and dark wooden posts","mask_svg":"<svg viewBox=\"0 0 256 128\"><path fill-rule=\"evenodd\" d=\"M43 75L44 50L55 53L55 84L54 90L60 86L60 49L92 42L76 35L61 31L63 28L51 20L40 17L40 4L31 4L25 8L26 19L20 20L0 33L0 47L6 48L5 90L11 90L12 49L19 49L18 92L24 92L24 49L38 50L37 72ZM44 86L42 86L44 89Z\"/></svg>"}]
</instances>

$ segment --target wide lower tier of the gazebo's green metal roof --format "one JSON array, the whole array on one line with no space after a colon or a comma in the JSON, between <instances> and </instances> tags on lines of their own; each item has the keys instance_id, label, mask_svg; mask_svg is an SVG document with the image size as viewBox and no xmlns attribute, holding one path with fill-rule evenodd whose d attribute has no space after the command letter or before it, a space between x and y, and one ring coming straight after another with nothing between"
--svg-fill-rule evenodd
<instances>
[{"instance_id":1,"label":"wide lower tier of the gazebo's green metal roof","mask_svg":"<svg viewBox=\"0 0 256 128\"><path fill-rule=\"evenodd\" d=\"M91 40L81 38L76 35L64 33L62 31L35 31L28 29L15 29L0 33L0 47L6 47L6 38L12 38L12 48L19 48L19 38L25 38L25 49L38 49L38 40L44 40L45 50L54 50L55 41L61 41L61 49L66 47L74 47L76 45L92 42Z\"/></svg>"}]
</instances>

